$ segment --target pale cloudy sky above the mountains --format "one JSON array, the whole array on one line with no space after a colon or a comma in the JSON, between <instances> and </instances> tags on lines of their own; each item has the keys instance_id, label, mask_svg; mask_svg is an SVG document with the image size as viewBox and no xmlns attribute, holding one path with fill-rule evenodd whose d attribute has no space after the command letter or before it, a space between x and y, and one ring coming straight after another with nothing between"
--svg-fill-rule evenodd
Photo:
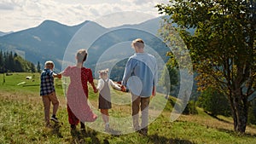
<instances>
[{"instance_id":1,"label":"pale cloudy sky above the mountains","mask_svg":"<svg viewBox=\"0 0 256 144\"><path fill-rule=\"evenodd\" d=\"M156 17L160 15L154 6L167 2L168 0L1 0L0 32L17 32L38 26L44 20L74 26L84 20L97 20L104 15L127 11ZM139 15L134 14L134 17L140 20L150 17Z\"/></svg>"}]
</instances>

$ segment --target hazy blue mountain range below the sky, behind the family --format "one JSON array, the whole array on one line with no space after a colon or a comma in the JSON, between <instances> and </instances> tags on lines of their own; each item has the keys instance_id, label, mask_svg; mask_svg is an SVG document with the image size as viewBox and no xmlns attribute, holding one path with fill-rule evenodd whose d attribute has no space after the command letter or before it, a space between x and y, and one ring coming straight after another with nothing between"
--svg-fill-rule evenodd
<instances>
[{"instance_id":1,"label":"hazy blue mountain range below the sky, behind the family","mask_svg":"<svg viewBox=\"0 0 256 144\"><path fill-rule=\"evenodd\" d=\"M38 26L0 37L0 49L22 54L26 60L30 60L34 64L37 64L38 61L44 64L45 60L54 60L56 61L55 68L61 70L63 56L66 54L67 47L72 43L73 37L79 31L83 33L86 29L84 31L86 32L85 35L76 39L74 47L79 49L88 48L86 44L92 43L92 37L105 34L98 37L99 39L96 39L90 46L92 48L90 58L93 60L88 60L88 64L89 67L93 67L96 65L95 62L100 54L113 44L131 41L137 37L143 37L146 43L151 43L153 47L159 45L156 49L160 51L161 55L165 55L166 49L164 51L161 49L165 47L165 44L158 44L160 40L155 38L159 27L160 17L146 20L140 24L111 28L103 27L90 20L85 20L74 26L67 26L55 20L44 20ZM100 48L100 51L96 48Z\"/></svg>"}]
</instances>

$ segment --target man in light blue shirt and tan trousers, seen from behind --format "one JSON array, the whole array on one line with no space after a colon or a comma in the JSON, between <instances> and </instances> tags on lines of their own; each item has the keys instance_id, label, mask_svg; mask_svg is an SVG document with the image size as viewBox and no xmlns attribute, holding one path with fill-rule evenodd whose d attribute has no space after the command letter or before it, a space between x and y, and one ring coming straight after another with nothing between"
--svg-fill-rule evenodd
<instances>
[{"instance_id":1,"label":"man in light blue shirt and tan trousers, seen from behind","mask_svg":"<svg viewBox=\"0 0 256 144\"><path fill-rule=\"evenodd\" d=\"M153 55L144 52L144 42L141 38L132 41L131 47L136 53L126 63L122 85L131 92L134 130L147 135L149 97L155 95L155 85L158 80L157 61ZM141 126L138 122L140 109Z\"/></svg>"}]
</instances>

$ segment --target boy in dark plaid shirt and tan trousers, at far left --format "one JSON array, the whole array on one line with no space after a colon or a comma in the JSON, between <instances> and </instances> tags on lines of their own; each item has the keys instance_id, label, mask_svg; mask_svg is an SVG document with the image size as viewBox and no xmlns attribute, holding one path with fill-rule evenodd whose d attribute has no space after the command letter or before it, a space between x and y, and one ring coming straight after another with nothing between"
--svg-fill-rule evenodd
<instances>
[{"instance_id":1,"label":"boy in dark plaid shirt and tan trousers, at far left","mask_svg":"<svg viewBox=\"0 0 256 144\"><path fill-rule=\"evenodd\" d=\"M59 122L58 118L55 117L59 107L59 100L55 94L54 78L61 78L61 74L53 72L53 68L53 61L48 60L45 62L44 71L41 73L40 95L42 96L44 103L44 119L47 127L50 127L49 119L53 120L55 123ZM49 118L50 101L53 104L53 113L51 118Z\"/></svg>"}]
</instances>

